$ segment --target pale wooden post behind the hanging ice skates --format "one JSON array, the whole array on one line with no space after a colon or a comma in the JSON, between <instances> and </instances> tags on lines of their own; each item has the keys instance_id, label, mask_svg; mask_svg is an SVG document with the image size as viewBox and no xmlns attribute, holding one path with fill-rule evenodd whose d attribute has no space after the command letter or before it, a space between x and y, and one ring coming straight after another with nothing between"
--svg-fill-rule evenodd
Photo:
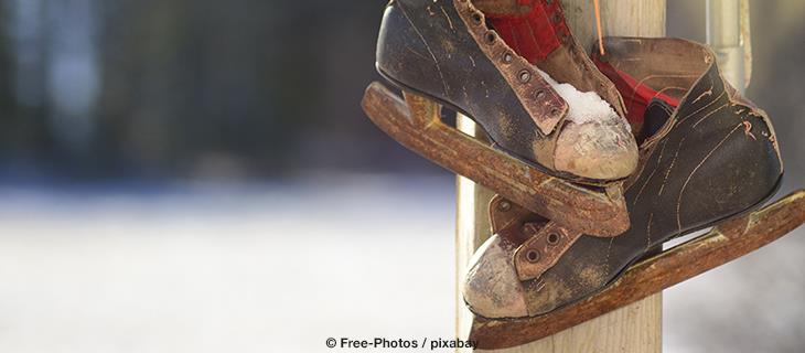
<instances>
[{"instance_id":1,"label":"pale wooden post behind the hanging ice skates","mask_svg":"<svg viewBox=\"0 0 805 353\"><path fill-rule=\"evenodd\" d=\"M594 43L595 18L592 0L562 0L565 15L582 47ZM601 17L604 35L664 36L665 0L603 0ZM459 116L459 129L482 135L468 118ZM491 235L487 205L494 193L459 176L457 181L457 306L455 328L465 339L472 314L464 307L460 287L474 250ZM615 310L598 319L562 331L550 338L500 352L505 353L577 353L662 351L662 295Z\"/></svg>"}]
</instances>

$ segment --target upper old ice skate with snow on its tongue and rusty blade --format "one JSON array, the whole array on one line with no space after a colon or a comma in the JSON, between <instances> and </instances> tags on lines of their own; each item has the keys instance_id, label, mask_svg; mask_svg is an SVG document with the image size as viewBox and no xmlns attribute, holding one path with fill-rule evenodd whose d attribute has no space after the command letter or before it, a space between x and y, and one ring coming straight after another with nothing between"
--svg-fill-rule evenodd
<instances>
[{"instance_id":1,"label":"upper old ice skate with snow on its tongue and rusty blade","mask_svg":"<svg viewBox=\"0 0 805 353\"><path fill-rule=\"evenodd\" d=\"M637 165L636 143L614 85L580 50L558 2L550 11L549 36L561 44L540 71L472 1L389 2L377 68L406 101L373 84L364 109L400 143L530 211L586 233L620 234L629 221L619 181ZM561 92L549 76L566 84ZM566 90L608 113L577 118L595 109L566 100ZM442 124L442 105L475 120L493 147Z\"/></svg>"}]
</instances>

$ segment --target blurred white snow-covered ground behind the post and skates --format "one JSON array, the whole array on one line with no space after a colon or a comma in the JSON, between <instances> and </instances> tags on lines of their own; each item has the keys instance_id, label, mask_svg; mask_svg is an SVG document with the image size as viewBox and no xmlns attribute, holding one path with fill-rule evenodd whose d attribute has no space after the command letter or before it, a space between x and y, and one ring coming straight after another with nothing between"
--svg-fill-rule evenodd
<instances>
[{"instance_id":1,"label":"blurred white snow-covered ground behind the post and skates","mask_svg":"<svg viewBox=\"0 0 805 353\"><path fill-rule=\"evenodd\" d=\"M450 338L453 195L448 178L0 186L0 352ZM666 352L802 352L798 232L666 291Z\"/></svg>"}]
</instances>

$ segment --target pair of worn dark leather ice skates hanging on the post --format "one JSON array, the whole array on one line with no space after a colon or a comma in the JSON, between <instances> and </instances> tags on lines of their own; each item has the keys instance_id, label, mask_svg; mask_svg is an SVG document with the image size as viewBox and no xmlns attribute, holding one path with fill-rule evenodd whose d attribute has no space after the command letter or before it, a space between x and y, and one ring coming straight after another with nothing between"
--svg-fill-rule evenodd
<instances>
[{"instance_id":1,"label":"pair of worn dark leather ice skates hanging on the post","mask_svg":"<svg viewBox=\"0 0 805 353\"><path fill-rule=\"evenodd\" d=\"M498 194L494 235L463 288L483 347L634 302L805 221L803 191L755 211L783 175L774 129L724 83L710 50L676 39L608 38L603 46L605 55L580 49L559 1L386 8L377 68L405 99L373 83L367 115ZM442 106L472 118L492 143L444 125Z\"/></svg>"}]
</instances>

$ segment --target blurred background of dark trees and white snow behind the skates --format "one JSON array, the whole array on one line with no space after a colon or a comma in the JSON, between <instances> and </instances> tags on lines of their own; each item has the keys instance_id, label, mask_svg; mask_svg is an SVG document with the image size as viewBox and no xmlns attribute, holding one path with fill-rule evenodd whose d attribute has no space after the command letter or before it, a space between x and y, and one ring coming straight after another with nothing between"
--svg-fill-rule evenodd
<instances>
[{"instance_id":1,"label":"blurred background of dark trees and white snow behind the skates","mask_svg":"<svg viewBox=\"0 0 805 353\"><path fill-rule=\"evenodd\" d=\"M702 1L668 34L705 39ZM385 1L0 0L0 351L454 335L454 176L359 108ZM805 2L748 96L805 180ZM805 234L665 293L666 352L805 351Z\"/></svg>"}]
</instances>

